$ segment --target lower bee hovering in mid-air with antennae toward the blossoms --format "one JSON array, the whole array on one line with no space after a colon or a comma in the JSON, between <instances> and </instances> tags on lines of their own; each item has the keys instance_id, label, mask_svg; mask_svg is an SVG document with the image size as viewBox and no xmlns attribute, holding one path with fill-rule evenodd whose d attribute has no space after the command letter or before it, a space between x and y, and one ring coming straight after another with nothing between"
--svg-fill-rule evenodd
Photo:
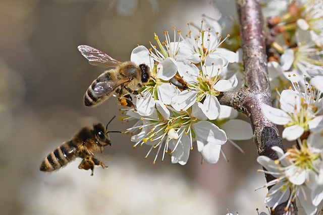
<instances>
[{"instance_id":1,"label":"lower bee hovering in mid-air with antennae toward the blossoms","mask_svg":"<svg viewBox=\"0 0 323 215\"><path fill-rule=\"evenodd\" d=\"M107 126L115 118L115 116L106 124L98 123L92 127L81 128L74 137L64 142L56 150L50 152L42 161L40 171L52 172L67 165L77 157L82 158L79 169L94 171L94 166L101 166L103 169L107 166L95 158L94 153L102 153L105 146L110 145L111 132L120 131L107 131Z\"/></svg>"}]
</instances>

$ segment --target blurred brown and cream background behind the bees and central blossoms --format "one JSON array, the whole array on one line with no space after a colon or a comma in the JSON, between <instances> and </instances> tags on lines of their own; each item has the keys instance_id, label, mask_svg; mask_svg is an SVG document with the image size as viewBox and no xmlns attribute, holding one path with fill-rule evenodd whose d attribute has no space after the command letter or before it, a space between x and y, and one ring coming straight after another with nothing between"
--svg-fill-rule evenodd
<instances>
[{"instance_id":1,"label":"blurred brown and cream background behind the bees and central blossoms","mask_svg":"<svg viewBox=\"0 0 323 215\"><path fill-rule=\"evenodd\" d=\"M230 160L201 164L197 150L185 166L170 158L144 159L148 146L133 150L130 136L112 133L102 157L109 169L79 170L80 160L50 174L42 159L83 126L120 115L117 99L96 108L83 94L104 69L77 50L96 47L120 61L153 33L188 31L202 14L225 16L228 2L208 0L4 0L0 1L0 214L256 214L265 210L265 183L256 148L237 141L223 149ZM172 36L172 34L170 34ZM114 120L110 129L131 123Z\"/></svg>"}]
</instances>

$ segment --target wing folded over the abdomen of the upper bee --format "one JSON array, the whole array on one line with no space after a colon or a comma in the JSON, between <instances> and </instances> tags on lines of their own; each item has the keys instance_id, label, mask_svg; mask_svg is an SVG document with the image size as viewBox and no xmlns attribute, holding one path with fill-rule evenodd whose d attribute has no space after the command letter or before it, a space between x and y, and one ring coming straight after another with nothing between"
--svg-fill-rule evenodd
<instances>
[{"instance_id":1,"label":"wing folded over the abdomen of the upper bee","mask_svg":"<svg viewBox=\"0 0 323 215\"><path fill-rule=\"evenodd\" d=\"M97 96L104 96L107 94L112 93L114 90L116 90L117 87L119 87L122 84L125 84L129 82L128 79L118 79L114 81L106 81L106 82L97 82L95 83L93 89L93 93Z\"/></svg>"}]
</instances>

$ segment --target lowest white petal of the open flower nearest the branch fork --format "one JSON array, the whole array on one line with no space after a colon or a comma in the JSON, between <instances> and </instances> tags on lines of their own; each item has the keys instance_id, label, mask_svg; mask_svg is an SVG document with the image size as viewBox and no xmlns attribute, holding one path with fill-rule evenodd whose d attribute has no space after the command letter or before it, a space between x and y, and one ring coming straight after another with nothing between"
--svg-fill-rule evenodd
<instances>
[{"instance_id":1,"label":"lowest white petal of the open flower nearest the branch fork","mask_svg":"<svg viewBox=\"0 0 323 215\"><path fill-rule=\"evenodd\" d=\"M220 102L217 97L211 96L210 94L207 94L203 104L199 102L198 106L208 119L216 119L220 114Z\"/></svg>"}]
</instances>

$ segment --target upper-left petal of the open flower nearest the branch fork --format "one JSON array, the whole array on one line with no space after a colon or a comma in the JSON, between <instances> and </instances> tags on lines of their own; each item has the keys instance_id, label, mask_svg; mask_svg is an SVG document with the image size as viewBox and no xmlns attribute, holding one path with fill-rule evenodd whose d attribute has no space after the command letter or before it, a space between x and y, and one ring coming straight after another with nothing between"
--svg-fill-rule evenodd
<instances>
[{"instance_id":1,"label":"upper-left petal of the open flower nearest the branch fork","mask_svg":"<svg viewBox=\"0 0 323 215\"><path fill-rule=\"evenodd\" d=\"M196 65L184 58L177 59L176 64L178 67L178 73L186 82L197 82L196 78L198 77L199 69Z\"/></svg>"}]
</instances>

